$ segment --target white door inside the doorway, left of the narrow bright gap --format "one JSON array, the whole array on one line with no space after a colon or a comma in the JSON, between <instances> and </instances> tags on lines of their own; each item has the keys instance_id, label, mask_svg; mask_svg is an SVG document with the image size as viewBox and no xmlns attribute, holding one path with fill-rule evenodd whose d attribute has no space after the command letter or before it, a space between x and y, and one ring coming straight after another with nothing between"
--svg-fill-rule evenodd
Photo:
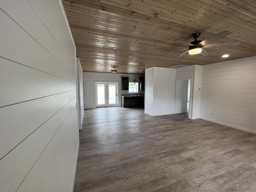
<instances>
[{"instance_id":1,"label":"white door inside the doorway, left of the narrow bright gap","mask_svg":"<svg viewBox=\"0 0 256 192\"><path fill-rule=\"evenodd\" d=\"M187 112L188 80L176 80L175 114Z\"/></svg>"}]
</instances>

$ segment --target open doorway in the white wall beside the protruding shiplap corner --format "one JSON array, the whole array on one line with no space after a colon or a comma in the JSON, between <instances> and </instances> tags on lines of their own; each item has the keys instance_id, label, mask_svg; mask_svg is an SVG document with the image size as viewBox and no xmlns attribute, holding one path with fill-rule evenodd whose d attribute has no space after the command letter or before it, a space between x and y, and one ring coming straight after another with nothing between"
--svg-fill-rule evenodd
<instances>
[{"instance_id":1,"label":"open doorway in the white wall beside the protruding shiplap corner","mask_svg":"<svg viewBox=\"0 0 256 192\"><path fill-rule=\"evenodd\" d=\"M176 80L175 92L175 114L187 113L188 118L192 118L191 114L191 79Z\"/></svg>"}]
</instances>

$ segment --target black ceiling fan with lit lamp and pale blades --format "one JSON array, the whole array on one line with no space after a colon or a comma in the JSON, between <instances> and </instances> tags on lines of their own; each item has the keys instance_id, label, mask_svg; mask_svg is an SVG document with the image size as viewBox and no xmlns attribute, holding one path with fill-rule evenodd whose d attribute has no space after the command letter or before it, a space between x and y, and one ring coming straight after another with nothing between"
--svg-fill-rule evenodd
<instances>
[{"instance_id":1,"label":"black ceiling fan with lit lamp and pale blades","mask_svg":"<svg viewBox=\"0 0 256 192\"><path fill-rule=\"evenodd\" d=\"M201 54L202 56L206 56L209 53L206 50L204 50L204 48L215 47L215 46L235 46L235 45L238 45L240 43L239 41L208 44L209 42L220 39L220 38L222 38L224 36L227 36L231 33L232 32L230 32L230 31L223 31L223 32L221 32L219 34L216 34L216 35L214 35L214 36L212 36L212 37L210 37L210 38L208 38L204 41L200 41L200 40L196 40L196 38L198 38L201 33L196 32L196 33L193 33L191 35L191 37L194 38L195 40L190 42L190 43L187 43L183 40L175 40L175 42L178 42L178 43L181 43L181 44L184 44L184 45L188 46L188 48L178 49L178 50L185 50L185 49L188 49L188 50L186 50L182 54L178 55L176 58L180 58L181 56L183 56L186 53L189 53L190 55ZM166 52L163 52L163 53L169 53L169 52L178 51L178 50L166 51Z\"/></svg>"}]
</instances>

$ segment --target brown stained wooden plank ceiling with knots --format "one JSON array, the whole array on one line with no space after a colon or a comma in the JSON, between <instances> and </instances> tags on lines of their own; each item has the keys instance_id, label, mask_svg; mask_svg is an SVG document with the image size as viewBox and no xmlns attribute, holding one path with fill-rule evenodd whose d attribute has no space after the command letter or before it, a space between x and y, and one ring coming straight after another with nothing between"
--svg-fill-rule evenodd
<instances>
[{"instance_id":1,"label":"brown stained wooden plank ceiling with knots","mask_svg":"<svg viewBox=\"0 0 256 192\"><path fill-rule=\"evenodd\" d=\"M63 0L84 72L144 73L153 66L205 65L256 55L255 0ZM206 40L224 30L232 34L206 48L208 56L185 54L174 40ZM223 54L230 57L222 58ZM142 72L138 71L142 70Z\"/></svg>"}]
</instances>

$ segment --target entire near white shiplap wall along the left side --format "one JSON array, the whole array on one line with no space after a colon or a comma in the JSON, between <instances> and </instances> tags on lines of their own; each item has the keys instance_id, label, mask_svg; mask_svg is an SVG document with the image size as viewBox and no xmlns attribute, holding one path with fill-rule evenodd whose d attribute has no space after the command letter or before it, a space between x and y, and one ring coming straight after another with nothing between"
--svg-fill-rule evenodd
<instances>
[{"instance_id":1,"label":"entire near white shiplap wall along the left side","mask_svg":"<svg viewBox=\"0 0 256 192\"><path fill-rule=\"evenodd\" d=\"M0 191L71 192L76 55L58 0L0 0Z\"/></svg>"}]
</instances>

